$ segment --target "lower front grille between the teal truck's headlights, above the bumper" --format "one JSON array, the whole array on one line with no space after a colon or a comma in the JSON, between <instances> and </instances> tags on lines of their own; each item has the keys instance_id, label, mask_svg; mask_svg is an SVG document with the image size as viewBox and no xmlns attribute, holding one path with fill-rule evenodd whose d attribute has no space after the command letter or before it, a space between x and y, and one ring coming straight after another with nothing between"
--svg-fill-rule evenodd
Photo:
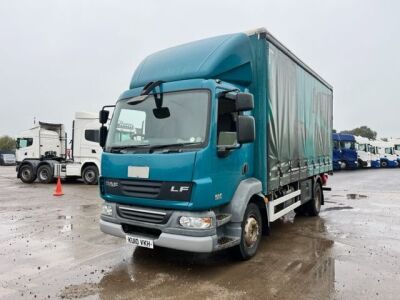
<instances>
[{"instance_id":1,"label":"lower front grille between the teal truck's headlights, above the bumper","mask_svg":"<svg viewBox=\"0 0 400 300\"><path fill-rule=\"evenodd\" d=\"M122 205L118 206L117 212L121 218L153 224L164 224L169 218L169 214L163 211L133 208Z\"/></svg>"}]
</instances>

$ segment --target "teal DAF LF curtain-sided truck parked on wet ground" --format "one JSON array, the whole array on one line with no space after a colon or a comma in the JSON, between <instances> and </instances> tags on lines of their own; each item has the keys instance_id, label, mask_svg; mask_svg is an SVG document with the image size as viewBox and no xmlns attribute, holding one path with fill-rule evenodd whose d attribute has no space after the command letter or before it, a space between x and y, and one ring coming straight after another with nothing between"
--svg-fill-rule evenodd
<instances>
[{"instance_id":1,"label":"teal DAF LF curtain-sided truck parked on wet ground","mask_svg":"<svg viewBox=\"0 0 400 300\"><path fill-rule=\"evenodd\" d=\"M271 222L324 204L332 87L265 29L156 52L110 106L99 116L107 234L248 259Z\"/></svg>"}]
</instances>

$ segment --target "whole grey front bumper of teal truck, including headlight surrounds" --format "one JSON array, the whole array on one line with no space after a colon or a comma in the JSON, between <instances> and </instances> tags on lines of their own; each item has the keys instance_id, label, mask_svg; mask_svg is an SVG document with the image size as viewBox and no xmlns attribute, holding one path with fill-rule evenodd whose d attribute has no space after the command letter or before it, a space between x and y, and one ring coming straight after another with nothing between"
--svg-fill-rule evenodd
<instances>
[{"instance_id":1,"label":"whole grey front bumper of teal truck, including headlight surrounds","mask_svg":"<svg viewBox=\"0 0 400 300\"><path fill-rule=\"evenodd\" d=\"M230 222L230 215L225 215L227 218L221 221L219 217L217 218L220 216L218 211L176 211L106 203L112 206L112 215L101 215L100 229L113 236L125 238L126 235L132 235L150 238L154 245L159 247L201 253L229 248L240 242L241 224ZM139 219L126 217L120 209L134 210L140 213L140 217ZM152 223L151 219L144 219L143 213L165 214L166 217L158 223ZM211 217L213 225L208 229L185 228L179 224L181 216Z\"/></svg>"}]
</instances>

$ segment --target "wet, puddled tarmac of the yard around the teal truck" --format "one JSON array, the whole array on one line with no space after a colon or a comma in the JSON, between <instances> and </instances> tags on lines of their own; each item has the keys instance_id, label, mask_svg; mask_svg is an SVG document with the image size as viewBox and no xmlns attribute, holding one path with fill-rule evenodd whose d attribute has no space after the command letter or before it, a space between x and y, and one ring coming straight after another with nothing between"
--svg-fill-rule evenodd
<instances>
[{"instance_id":1,"label":"wet, puddled tarmac of the yard around the teal truck","mask_svg":"<svg viewBox=\"0 0 400 300\"><path fill-rule=\"evenodd\" d=\"M256 257L134 249L100 232L97 186L0 167L1 299L399 299L400 170L330 177L320 217L272 224Z\"/></svg>"}]
</instances>

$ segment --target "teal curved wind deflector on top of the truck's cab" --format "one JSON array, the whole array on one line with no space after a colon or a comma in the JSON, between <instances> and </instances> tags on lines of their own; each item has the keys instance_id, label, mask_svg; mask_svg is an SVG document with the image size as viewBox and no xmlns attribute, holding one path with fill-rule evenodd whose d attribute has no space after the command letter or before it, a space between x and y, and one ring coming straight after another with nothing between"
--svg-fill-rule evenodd
<instances>
[{"instance_id":1,"label":"teal curved wind deflector on top of the truck's cab","mask_svg":"<svg viewBox=\"0 0 400 300\"><path fill-rule=\"evenodd\" d=\"M221 35L153 53L136 69L130 89L151 81L195 78L221 79L249 85L252 70L251 46L247 34Z\"/></svg>"}]
</instances>

